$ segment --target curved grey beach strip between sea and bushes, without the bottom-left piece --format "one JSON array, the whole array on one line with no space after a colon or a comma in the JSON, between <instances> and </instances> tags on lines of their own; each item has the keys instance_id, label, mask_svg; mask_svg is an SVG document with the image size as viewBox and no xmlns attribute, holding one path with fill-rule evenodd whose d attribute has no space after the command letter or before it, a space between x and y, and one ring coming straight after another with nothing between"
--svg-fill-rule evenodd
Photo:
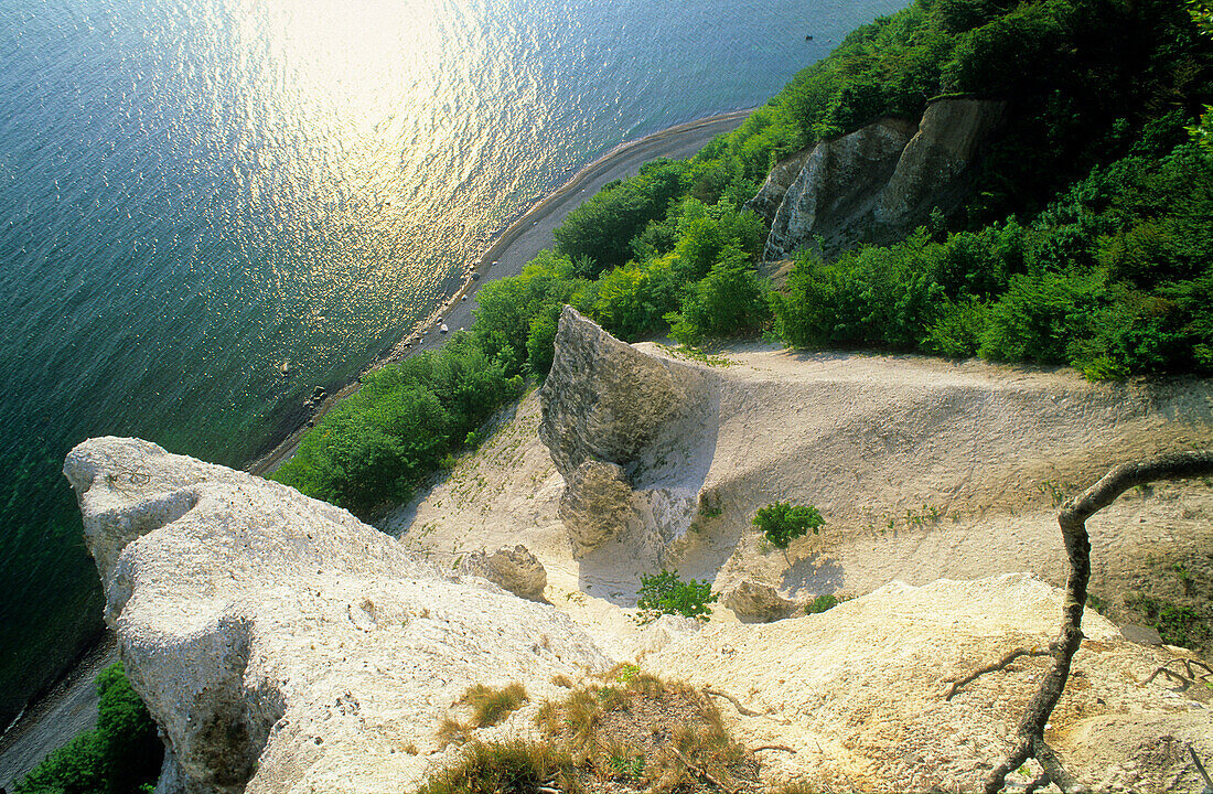
<instances>
[{"instance_id":1,"label":"curved grey beach strip between sea and bushes, without the bottom-left piece","mask_svg":"<svg viewBox=\"0 0 1213 794\"><path fill-rule=\"evenodd\" d=\"M551 230L559 225L564 221L564 217L580 206L585 199L598 193L602 184L632 176L632 173L639 170L640 165L649 160L688 156L685 152L691 147L691 154L694 154L717 135L731 132L741 126L741 122L754 109L729 110L666 127L642 138L625 141L597 160L579 168L566 182L523 210L517 218L495 235L489 247L475 259L475 264L472 265L471 274L462 287L448 297L433 313L417 324L412 331L399 339L387 354L380 355L368 366L363 367L354 381L346 383L334 394L326 395L302 424L287 433L269 452L247 463L244 470L258 476L272 474L279 465L295 455L303 435L313 425L318 424L325 413L331 411L341 400L358 392L361 385L361 376L388 364L403 361L414 353L442 347L444 337L437 331L439 324L446 322L452 331L469 327L472 324L471 309L475 304L474 296L482 285L497 279L518 275L522 273L523 267L534 258L535 253L539 253L542 247L551 247L552 244L548 241L541 249L535 249L529 256L519 255L529 251L531 246L523 246L523 251L512 251L511 249L516 244L519 244L529 232L542 233L546 230L546 236L551 238ZM592 184L597 184L598 187L593 193L588 193ZM587 193L587 195L581 196L582 193ZM514 256L511 256L512 253ZM418 331L417 329L421 330ZM311 425L308 422L311 422Z\"/></svg>"}]
</instances>

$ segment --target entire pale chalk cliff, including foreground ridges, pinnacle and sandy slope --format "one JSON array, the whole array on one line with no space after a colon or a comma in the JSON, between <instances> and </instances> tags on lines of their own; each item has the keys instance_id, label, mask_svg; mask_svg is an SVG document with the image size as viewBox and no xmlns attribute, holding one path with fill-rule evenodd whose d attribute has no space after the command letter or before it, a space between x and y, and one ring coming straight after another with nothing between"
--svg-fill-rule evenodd
<instances>
[{"instance_id":1,"label":"entire pale chalk cliff, including foreground ridges, pinnacle and sandy slope","mask_svg":"<svg viewBox=\"0 0 1213 794\"><path fill-rule=\"evenodd\" d=\"M758 345L678 360L569 310L543 394L385 525L399 539L133 439L86 441L64 473L106 618L171 749L161 792L410 790L455 761L438 727L471 685L531 697L478 738L535 736L542 699L565 692L553 676L614 661L746 707L722 703L742 742L795 750L764 752L768 786L973 790L1043 662L946 693L1055 630L1048 487L1208 444L1211 389ZM593 489L576 482L594 472ZM579 547L569 498L587 521L623 504L622 535ZM775 499L818 504L827 525L786 556L763 549L750 520ZM1201 482L1126 495L1089 524L1097 588L1147 553L1203 553L1211 516ZM725 595L711 622L636 626L637 578L660 565ZM860 598L797 609L843 590ZM1184 753L1213 754L1207 690L1150 679L1184 652L1093 612L1083 629L1050 743L1090 786L1195 784Z\"/></svg>"}]
</instances>

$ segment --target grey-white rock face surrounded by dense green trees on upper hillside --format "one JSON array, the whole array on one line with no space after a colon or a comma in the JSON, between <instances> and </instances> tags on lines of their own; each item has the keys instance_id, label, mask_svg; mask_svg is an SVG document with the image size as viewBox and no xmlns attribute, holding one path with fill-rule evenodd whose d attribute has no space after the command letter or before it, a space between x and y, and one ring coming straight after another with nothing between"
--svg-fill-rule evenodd
<instances>
[{"instance_id":1,"label":"grey-white rock face surrounded by dense green trees on upper hillside","mask_svg":"<svg viewBox=\"0 0 1213 794\"><path fill-rule=\"evenodd\" d=\"M935 207L953 211L1003 109L1001 102L939 99L927 107L917 130L882 119L818 143L771 216L764 258L807 246L828 258L861 241L895 240ZM747 206L765 213L791 165L776 166Z\"/></svg>"}]
</instances>

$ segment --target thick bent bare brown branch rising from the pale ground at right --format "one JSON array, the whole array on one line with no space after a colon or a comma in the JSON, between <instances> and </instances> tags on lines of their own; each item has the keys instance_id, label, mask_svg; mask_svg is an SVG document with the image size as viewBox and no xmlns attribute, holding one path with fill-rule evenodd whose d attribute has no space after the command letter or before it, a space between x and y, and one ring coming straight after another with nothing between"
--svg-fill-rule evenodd
<instances>
[{"instance_id":1,"label":"thick bent bare brown branch rising from the pale ground at right","mask_svg":"<svg viewBox=\"0 0 1213 794\"><path fill-rule=\"evenodd\" d=\"M1209 474L1213 474L1213 451L1162 455L1138 463L1117 465L1099 482L1061 505L1058 524L1061 527L1061 538L1065 541L1070 573L1066 577L1066 598L1061 607L1061 629L1049 644L1053 667L1027 702L1015 731L1014 750L986 779L986 794L1002 790L1007 775L1029 758L1040 761L1063 792L1072 792L1076 788L1076 781L1066 773L1053 748L1044 742L1044 724L1061 698L1066 679L1070 676L1070 664L1082 642L1082 611L1087 602L1087 583L1090 579L1090 538L1087 535L1087 519L1137 485Z\"/></svg>"}]
</instances>

